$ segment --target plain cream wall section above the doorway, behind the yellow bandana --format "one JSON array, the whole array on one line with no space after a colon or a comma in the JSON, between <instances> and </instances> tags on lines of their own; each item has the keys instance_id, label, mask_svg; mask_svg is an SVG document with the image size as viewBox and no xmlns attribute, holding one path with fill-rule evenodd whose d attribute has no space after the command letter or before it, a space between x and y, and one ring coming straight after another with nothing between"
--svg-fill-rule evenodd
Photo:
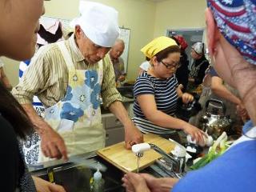
<instances>
[{"instance_id":1,"label":"plain cream wall section above the doorway, behind the yellow bandana","mask_svg":"<svg viewBox=\"0 0 256 192\"><path fill-rule=\"evenodd\" d=\"M169 0L156 4L154 38L166 29L205 27L206 0Z\"/></svg>"}]
</instances>

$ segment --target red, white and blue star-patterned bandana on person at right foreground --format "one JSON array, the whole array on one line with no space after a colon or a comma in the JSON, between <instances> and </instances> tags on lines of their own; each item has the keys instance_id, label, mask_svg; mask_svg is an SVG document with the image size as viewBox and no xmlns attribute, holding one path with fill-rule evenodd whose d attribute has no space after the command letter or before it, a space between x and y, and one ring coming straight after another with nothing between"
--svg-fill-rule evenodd
<instances>
[{"instance_id":1,"label":"red, white and blue star-patterned bandana on person at right foreground","mask_svg":"<svg viewBox=\"0 0 256 192\"><path fill-rule=\"evenodd\" d=\"M256 65L256 0L208 0L218 28L247 62Z\"/></svg>"}]
</instances>

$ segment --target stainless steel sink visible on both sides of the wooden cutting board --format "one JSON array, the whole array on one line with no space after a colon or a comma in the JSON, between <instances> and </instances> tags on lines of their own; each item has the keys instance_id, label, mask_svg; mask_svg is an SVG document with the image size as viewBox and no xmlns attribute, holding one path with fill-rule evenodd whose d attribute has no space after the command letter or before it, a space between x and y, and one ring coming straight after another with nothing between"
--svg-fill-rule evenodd
<instances>
[{"instance_id":1,"label":"stainless steel sink visible on both sides of the wooden cutting board","mask_svg":"<svg viewBox=\"0 0 256 192\"><path fill-rule=\"evenodd\" d=\"M106 171L102 172L102 178L105 180L105 192L125 191L121 181L123 176L122 170L118 170L118 168L97 156L94 156L93 158L89 158L91 157L90 154L82 154L80 156L106 166ZM86 166L78 166L77 164L74 164L74 162L62 162L60 160L36 165L36 167L35 165L29 166L29 169L31 174L45 179L46 181L50 181L50 174L53 173L54 183L62 185L66 192L90 192L90 178L93 177L93 174L96 171ZM153 174L155 177L177 176L170 175L168 171L166 172L166 167L161 167L156 162L141 172Z\"/></svg>"}]
</instances>

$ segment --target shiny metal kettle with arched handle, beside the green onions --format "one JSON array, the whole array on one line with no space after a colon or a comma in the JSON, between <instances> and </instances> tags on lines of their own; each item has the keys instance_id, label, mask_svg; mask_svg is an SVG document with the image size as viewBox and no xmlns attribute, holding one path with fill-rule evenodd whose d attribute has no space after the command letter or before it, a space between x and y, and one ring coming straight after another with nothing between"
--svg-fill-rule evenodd
<instances>
[{"instance_id":1,"label":"shiny metal kettle with arched handle, beside the green onions","mask_svg":"<svg viewBox=\"0 0 256 192\"><path fill-rule=\"evenodd\" d=\"M212 109L209 110L209 103L217 104L217 106L211 105ZM226 106L222 101L214 98L209 99L206 102L206 114L204 114L199 121L199 128L203 131L207 131L207 134L217 139L223 131L228 132L232 125L232 120L225 116L225 114Z\"/></svg>"}]
</instances>

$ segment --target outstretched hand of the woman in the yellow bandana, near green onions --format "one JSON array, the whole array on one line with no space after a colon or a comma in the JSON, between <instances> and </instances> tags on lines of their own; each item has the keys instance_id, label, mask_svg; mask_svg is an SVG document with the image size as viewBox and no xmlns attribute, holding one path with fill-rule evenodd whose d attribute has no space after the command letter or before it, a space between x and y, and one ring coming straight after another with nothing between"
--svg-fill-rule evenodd
<instances>
[{"instance_id":1,"label":"outstretched hand of the woman in the yellow bandana, near green onions","mask_svg":"<svg viewBox=\"0 0 256 192\"><path fill-rule=\"evenodd\" d=\"M195 126L190 125L189 123L186 123L186 126L184 126L183 130L186 134L191 135L192 141L195 140L197 143L204 146L204 136L207 137L205 132L203 132L202 130L198 129Z\"/></svg>"}]
</instances>

